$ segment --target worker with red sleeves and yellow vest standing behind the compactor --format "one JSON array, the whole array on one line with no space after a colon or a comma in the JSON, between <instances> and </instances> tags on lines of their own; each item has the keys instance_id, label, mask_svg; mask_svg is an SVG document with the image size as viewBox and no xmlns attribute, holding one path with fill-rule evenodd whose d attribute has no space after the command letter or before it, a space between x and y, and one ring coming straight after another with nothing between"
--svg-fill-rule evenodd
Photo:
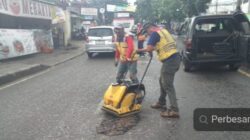
<instances>
[{"instance_id":1,"label":"worker with red sleeves and yellow vest standing behind the compactor","mask_svg":"<svg viewBox=\"0 0 250 140\"><path fill-rule=\"evenodd\" d=\"M129 77L133 83L139 83L137 78L137 59L138 55L134 48L133 37L125 34L124 28L121 26L115 27L116 32L116 53L115 65L118 65L116 82L122 83L129 71Z\"/></svg>"}]
</instances>

